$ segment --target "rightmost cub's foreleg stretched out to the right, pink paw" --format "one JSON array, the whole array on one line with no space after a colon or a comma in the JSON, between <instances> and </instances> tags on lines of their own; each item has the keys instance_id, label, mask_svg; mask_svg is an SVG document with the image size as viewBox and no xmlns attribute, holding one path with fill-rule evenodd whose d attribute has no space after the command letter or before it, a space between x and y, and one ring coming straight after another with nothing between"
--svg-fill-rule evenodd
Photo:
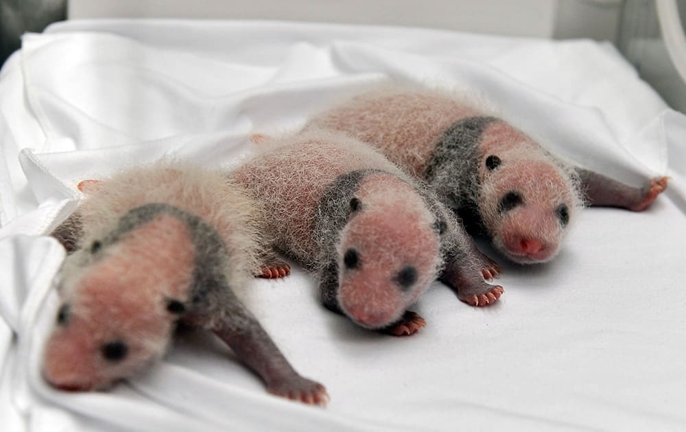
<instances>
[{"instance_id":1,"label":"rightmost cub's foreleg stretched out to the right, pink paw","mask_svg":"<svg viewBox=\"0 0 686 432\"><path fill-rule=\"evenodd\" d=\"M591 206L626 208L643 211L667 189L667 178L653 178L644 187L630 187L588 169L576 169L582 190Z\"/></svg>"}]
</instances>

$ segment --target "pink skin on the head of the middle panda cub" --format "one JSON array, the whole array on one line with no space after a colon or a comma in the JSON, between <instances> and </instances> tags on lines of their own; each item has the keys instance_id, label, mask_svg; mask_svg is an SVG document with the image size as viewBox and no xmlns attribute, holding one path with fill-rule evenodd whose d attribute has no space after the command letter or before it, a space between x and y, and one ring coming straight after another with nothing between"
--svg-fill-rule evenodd
<instances>
[{"instance_id":1,"label":"pink skin on the head of the middle panda cub","mask_svg":"<svg viewBox=\"0 0 686 432\"><path fill-rule=\"evenodd\" d=\"M390 190L396 199L388 197ZM425 324L421 317L401 318L436 278L440 239L433 217L409 185L385 174L366 178L356 197L363 209L344 228L339 246L339 304L360 326L394 324L387 333L415 333ZM359 267L348 269L343 257L351 248L359 254ZM403 289L396 280L407 266L416 280Z\"/></svg>"}]
</instances>

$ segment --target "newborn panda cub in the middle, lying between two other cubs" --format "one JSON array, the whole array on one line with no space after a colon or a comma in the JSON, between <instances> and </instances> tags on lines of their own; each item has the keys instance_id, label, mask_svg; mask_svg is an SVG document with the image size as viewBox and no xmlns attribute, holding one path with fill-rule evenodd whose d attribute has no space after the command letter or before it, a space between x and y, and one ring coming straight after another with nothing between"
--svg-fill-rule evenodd
<instances>
[{"instance_id":1,"label":"newborn panda cub in the middle, lying between two other cubs","mask_svg":"<svg viewBox=\"0 0 686 432\"><path fill-rule=\"evenodd\" d=\"M425 322L407 307L441 269L466 302L500 297L447 208L374 149L331 132L267 141L230 178L270 209L274 248L316 274L324 306L409 335Z\"/></svg>"}]
</instances>

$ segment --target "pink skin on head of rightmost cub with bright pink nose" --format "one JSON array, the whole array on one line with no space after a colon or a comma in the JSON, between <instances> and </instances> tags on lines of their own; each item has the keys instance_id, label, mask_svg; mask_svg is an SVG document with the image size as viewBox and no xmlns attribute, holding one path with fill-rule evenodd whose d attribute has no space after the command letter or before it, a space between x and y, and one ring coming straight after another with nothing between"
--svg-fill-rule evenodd
<instances>
[{"instance_id":1,"label":"pink skin on head of rightmost cub with bright pink nose","mask_svg":"<svg viewBox=\"0 0 686 432\"><path fill-rule=\"evenodd\" d=\"M534 141L504 122L486 128L479 149L480 213L493 244L517 263L551 260L565 234L556 209L560 204L570 213L575 208L573 187L565 173L539 156L541 150ZM501 159L493 171L485 164L490 155ZM501 212L499 200L509 191L520 193L523 204Z\"/></svg>"}]
</instances>

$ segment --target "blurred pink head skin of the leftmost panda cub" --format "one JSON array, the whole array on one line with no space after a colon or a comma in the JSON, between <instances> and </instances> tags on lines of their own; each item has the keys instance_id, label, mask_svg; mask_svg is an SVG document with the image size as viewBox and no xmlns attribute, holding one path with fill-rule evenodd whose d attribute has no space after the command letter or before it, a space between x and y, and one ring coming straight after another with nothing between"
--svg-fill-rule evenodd
<instances>
[{"instance_id":1,"label":"blurred pink head skin of the leftmost panda cub","mask_svg":"<svg viewBox=\"0 0 686 432\"><path fill-rule=\"evenodd\" d=\"M145 224L102 253L63 281L69 319L56 325L43 354L43 375L60 389L105 389L145 368L163 355L171 337L176 317L165 309L167 300L185 300L180 287L189 286L193 253L176 219ZM126 343L127 355L108 361L102 346L118 340Z\"/></svg>"}]
</instances>

